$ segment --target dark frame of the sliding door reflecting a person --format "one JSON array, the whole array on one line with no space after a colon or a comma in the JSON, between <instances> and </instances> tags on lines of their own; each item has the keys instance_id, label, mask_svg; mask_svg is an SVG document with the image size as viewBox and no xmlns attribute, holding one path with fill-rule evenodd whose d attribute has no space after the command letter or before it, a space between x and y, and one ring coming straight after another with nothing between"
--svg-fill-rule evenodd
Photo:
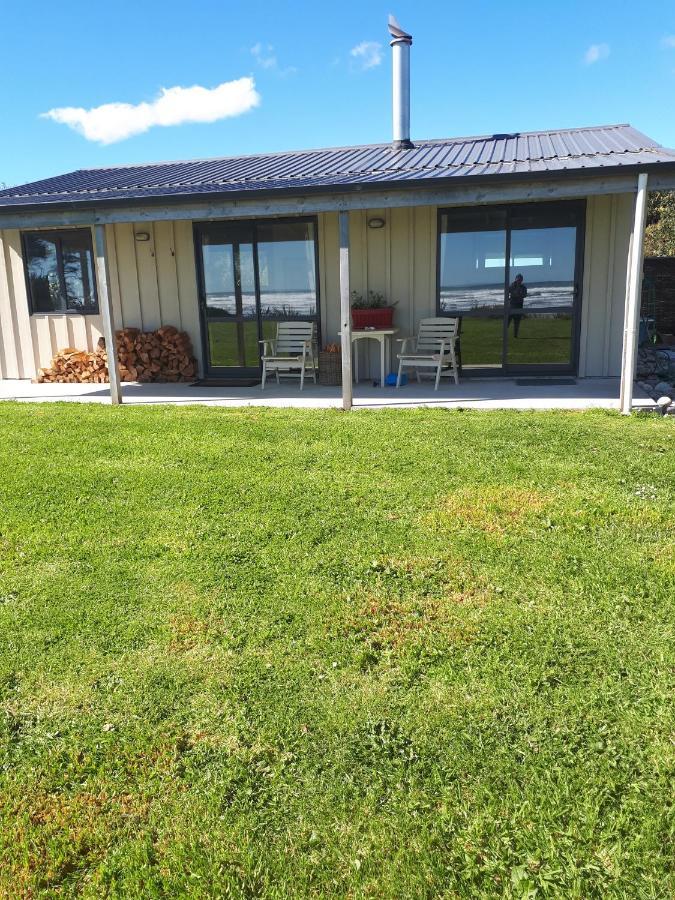
<instances>
[{"instance_id":1,"label":"dark frame of the sliding door reflecting a person","mask_svg":"<svg viewBox=\"0 0 675 900\"><path fill-rule=\"evenodd\" d=\"M574 283L575 283L575 298L574 298L574 321L573 321L573 332L572 332L572 359L570 364L542 364L542 365L523 365L523 366L506 366L506 341L503 340L502 343L502 366L498 371L494 371L493 369L479 369L476 368L472 370L473 375L476 375L480 378L484 378L486 376L494 376L497 378L504 378L509 376L517 376L517 375L574 375L577 376L579 374L579 358L580 358L580 350L581 350L581 318L582 318L582 306L583 306L583 283L584 283L584 262L585 262L585 248L586 248L586 210L587 203L586 199L579 200L544 200L541 202L530 202L530 203L495 203L495 204L485 204L485 208L489 211L495 211L498 213L504 214L504 227L503 230L506 232L506 247L508 248L508 255L506 258L510 257L510 249L511 249L511 232L512 230L521 231L522 228L516 227L515 229L512 227L511 220L514 216L517 216L519 213L528 213L530 210L532 212L537 212L543 222L542 228L547 227L557 227L555 218L556 213L561 214L565 211L572 211L575 214L575 227L577 229L577 242L575 248L575 275L574 275ZM442 232L441 231L441 220L443 215L456 215L458 218L461 216L462 211L466 211L467 209L475 209L475 207L469 206L439 206L436 210L436 315L437 316L448 316L448 318L453 318L449 313L443 311L441 309L441 235L448 234L452 232ZM532 226L536 227L536 226ZM492 231L492 228L475 228L471 229L474 231ZM502 229L500 229L502 230ZM458 229L458 231L466 231L465 228ZM507 249L505 248L505 253L507 253ZM506 294L508 292L508 276L509 276L509 267L505 267L505 275L504 275L504 298L506 303ZM504 313L504 336L506 335L507 329L507 319L506 313ZM460 320L460 329L461 329L461 320Z\"/></svg>"}]
</instances>

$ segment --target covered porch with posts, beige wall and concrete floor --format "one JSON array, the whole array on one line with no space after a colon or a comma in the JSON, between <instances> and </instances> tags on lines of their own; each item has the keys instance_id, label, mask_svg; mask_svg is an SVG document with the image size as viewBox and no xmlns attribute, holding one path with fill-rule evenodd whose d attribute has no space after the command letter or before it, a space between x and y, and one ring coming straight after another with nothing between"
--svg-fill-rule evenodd
<instances>
[{"instance_id":1,"label":"covered porch with posts, beige wall and concrete floor","mask_svg":"<svg viewBox=\"0 0 675 900\"><path fill-rule=\"evenodd\" d=\"M582 409L620 402L624 413L651 405L633 393L645 203L649 188L670 186L675 175L659 171L665 163L652 163L651 151L645 156L637 170L636 158L630 168L608 173L556 169L533 177L528 169L508 178L448 175L438 185L350 183L274 196L261 188L208 200L158 195L152 203L141 190L123 203L106 195L95 205L67 192L59 204L18 198L0 212L0 396L344 409ZM59 247L74 234L89 243L95 308L44 310L29 302L27 235L49 243L50 233ZM511 305L514 273L524 273L529 286L520 306ZM384 367L373 365L371 354L361 368L368 381L353 386L354 291L381 292L397 303L396 338L414 336L429 317L456 317L460 385L438 392L431 382L399 391L374 387L374 372L379 377ZM259 338L270 336L266 329L281 316L274 303L282 297L288 305L296 294L307 308L284 315L313 319L319 347L341 343L342 388L306 385L300 392L290 381L262 393L257 385L208 384L231 383L229 356L240 375L256 379ZM91 351L101 335L112 347L118 329L166 325L190 337L204 386L122 384L113 354L109 388L25 381L60 347ZM398 350L390 343L389 372ZM486 370L492 378L483 377Z\"/></svg>"}]
</instances>

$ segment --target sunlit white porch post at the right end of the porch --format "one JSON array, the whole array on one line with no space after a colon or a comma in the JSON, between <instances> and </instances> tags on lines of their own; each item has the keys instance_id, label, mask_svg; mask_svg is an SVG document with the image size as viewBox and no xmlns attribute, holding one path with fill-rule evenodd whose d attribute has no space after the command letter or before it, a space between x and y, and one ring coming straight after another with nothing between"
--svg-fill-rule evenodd
<instances>
[{"instance_id":1,"label":"sunlit white porch post at the right end of the porch","mask_svg":"<svg viewBox=\"0 0 675 900\"><path fill-rule=\"evenodd\" d=\"M640 299L642 291L642 255L647 216L646 172L638 175L638 190L635 197L635 219L631 237L628 263L628 285L626 289L626 310L623 322L623 353L621 357L620 405L624 416L629 416L633 407L633 382L637 363L638 333L640 330Z\"/></svg>"}]
</instances>

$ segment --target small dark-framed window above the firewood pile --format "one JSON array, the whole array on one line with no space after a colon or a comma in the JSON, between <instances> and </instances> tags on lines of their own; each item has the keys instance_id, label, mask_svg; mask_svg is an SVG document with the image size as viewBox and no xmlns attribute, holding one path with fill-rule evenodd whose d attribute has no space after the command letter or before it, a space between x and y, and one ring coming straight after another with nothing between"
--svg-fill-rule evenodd
<instances>
[{"instance_id":1,"label":"small dark-framed window above the firewood pile","mask_svg":"<svg viewBox=\"0 0 675 900\"><path fill-rule=\"evenodd\" d=\"M97 313L88 230L29 231L23 258L31 313Z\"/></svg>"}]
</instances>

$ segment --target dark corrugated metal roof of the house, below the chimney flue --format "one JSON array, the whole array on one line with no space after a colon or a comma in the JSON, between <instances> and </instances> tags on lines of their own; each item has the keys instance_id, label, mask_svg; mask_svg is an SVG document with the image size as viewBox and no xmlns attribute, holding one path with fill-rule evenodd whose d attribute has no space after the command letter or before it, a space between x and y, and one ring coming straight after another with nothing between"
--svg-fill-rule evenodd
<instances>
[{"instance_id":1,"label":"dark corrugated metal roof of the house, below the chimney flue","mask_svg":"<svg viewBox=\"0 0 675 900\"><path fill-rule=\"evenodd\" d=\"M399 151L374 144L78 169L0 191L0 208L260 190L328 191L383 183L404 187L444 178L578 173L654 163L675 163L675 150L630 125L607 125L417 141L413 149Z\"/></svg>"}]
</instances>

